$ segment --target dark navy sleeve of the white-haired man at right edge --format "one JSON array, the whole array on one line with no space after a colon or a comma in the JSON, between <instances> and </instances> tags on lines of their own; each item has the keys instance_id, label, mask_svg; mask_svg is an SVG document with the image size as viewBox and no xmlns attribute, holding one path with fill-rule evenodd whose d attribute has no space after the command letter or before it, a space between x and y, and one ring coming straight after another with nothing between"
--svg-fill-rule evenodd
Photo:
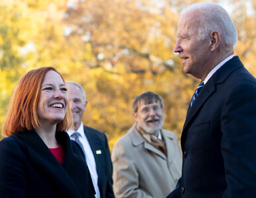
<instances>
[{"instance_id":1,"label":"dark navy sleeve of the white-haired man at right edge","mask_svg":"<svg viewBox=\"0 0 256 198\"><path fill-rule=\"evenodd\" d=\"M225 100L221 117L224 198L256 194L256 86L239 84Z\"/></svg>"}]
</instances>

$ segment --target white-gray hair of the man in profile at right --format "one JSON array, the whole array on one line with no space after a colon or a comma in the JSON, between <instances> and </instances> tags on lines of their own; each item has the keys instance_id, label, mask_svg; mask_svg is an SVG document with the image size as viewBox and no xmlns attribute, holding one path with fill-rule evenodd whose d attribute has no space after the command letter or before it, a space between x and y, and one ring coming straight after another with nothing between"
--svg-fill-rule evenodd
<instances>
[{"instance_id":1,"label":"white-gray hair of the man in profile at right","mask_svg":"<svg viewBox=\"0 0 256 198\"><path fill-rule=\"evenodd\" d=\"M190 11L196 11L200 15L198 29L200 40L206 39L213 30L218 30L225 44L235 46L237 43L235 24L220 5L212 2L194 3L182 10L181 16Z\"/></svg>"}]
</instances>

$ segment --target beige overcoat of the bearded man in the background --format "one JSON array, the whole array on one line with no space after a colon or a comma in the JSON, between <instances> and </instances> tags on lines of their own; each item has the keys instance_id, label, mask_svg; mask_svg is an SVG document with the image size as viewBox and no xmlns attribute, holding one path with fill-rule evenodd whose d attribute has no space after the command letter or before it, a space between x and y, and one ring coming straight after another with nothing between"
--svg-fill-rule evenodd
<instances>
[{"instance_id":1,"label":"beige overcoat of the bearded man in the background","mask_svg":"<svg viewBox=\"0 0 256 198\"><path fill-rule=\"evenodd\" d=\"M113 146L113 190L116 198L165 198L181 176L182 152L176 135L162 129L167 157L149 144L136 124Z\"/></svg>"}]
</instances>

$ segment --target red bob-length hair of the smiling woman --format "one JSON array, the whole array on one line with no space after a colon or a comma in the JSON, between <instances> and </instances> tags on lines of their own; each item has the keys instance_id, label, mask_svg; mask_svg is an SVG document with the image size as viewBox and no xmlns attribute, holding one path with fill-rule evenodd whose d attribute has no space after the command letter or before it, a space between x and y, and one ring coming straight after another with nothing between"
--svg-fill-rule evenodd
<instances>
[{"instance_id":1,"label":"red bob-length hair of the smiling woman","mask_svg":"<svg viewBox=\"0 0 256 198\"><path fill-rule=\"evenodd\" d=\"M3 135L10 136L15 132L40 127L37 104L40 98L42 81L50 70L58 73L54 67L40 67L32 69L19 80L9 103L9 109L3 124ZM60 75L60 73L58 74ZM62 80L65 82L63 77ZM64 119L57 124L57 130L66 131L72 127L72 124L72 113L70 105L68 105Z\"/></svg>"}]
</instances>

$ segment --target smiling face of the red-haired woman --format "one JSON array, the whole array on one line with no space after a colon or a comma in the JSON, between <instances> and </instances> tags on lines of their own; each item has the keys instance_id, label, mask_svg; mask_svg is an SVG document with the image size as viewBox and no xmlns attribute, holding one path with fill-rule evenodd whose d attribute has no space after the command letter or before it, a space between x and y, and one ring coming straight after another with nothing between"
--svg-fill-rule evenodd
<instances>
[{"instance_id":1,"label":"smiling face of the red-haired woman","mask_svg":"<svg viewBox=\"0 0 256 198\"><path fill-rule=\"evenodd\" d=\"M68 109L68 93L62 77L48 71L41 86L37 114L41 125L56 124L64 119Z\"/></svg>"}]
</instances>

